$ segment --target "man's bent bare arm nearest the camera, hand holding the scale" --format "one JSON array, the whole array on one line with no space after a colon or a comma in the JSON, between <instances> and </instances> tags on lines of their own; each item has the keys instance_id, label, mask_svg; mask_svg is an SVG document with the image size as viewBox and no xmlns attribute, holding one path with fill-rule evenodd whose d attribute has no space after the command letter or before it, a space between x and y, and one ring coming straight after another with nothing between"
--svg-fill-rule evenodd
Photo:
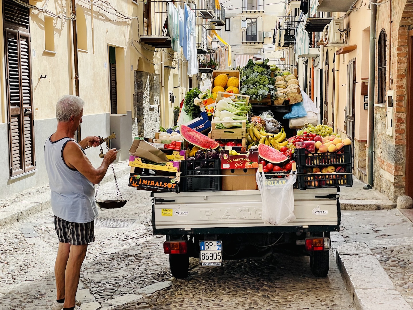
<instances>
[{"instance_id":1,"label":"man's bent bare arm nearest the camera, hand holding the scale","mask_svg":"<svg viewBox=\"0 0 413 310\"><path fill-rule=\"evenodd\" d=\"M99 184L109 165L116 159L116 153L116 149L109 150L103 157L102 165L95 168L79 145L74 141L69 141L63 150L63 158L70 168L78 170L93 184Z\"/></svg>"}]
</instances>

